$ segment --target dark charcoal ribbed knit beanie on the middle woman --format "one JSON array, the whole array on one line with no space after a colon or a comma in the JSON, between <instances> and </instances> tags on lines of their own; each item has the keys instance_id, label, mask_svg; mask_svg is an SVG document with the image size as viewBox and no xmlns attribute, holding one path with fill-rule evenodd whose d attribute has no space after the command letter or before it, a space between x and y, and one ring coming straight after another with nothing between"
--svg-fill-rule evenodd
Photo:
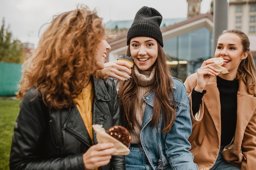
<instances>
[{"instance_id":1,"label":"dark charcoal ribbed knit beanie on the middle woman","mask_svg":"<svg viewBox=\"0 0 256 170\"><path fill-rule=\"evenodd\" d=\"M142 7L136 13L132 26L127 33L127 45L134 37L151 37L163 47L163 37L160 30L162 15L154 8Z\"/></svg>"}]
</instances>

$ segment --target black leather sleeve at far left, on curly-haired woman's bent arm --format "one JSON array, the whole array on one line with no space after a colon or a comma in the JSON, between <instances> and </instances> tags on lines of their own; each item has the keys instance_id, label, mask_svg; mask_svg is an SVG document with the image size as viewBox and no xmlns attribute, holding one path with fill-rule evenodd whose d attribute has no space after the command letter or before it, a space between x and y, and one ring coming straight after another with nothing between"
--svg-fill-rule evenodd
<instances>
[{"instance_id":1,"label":"black leather sleeve at far left, on curly-haired woman's bent arm","mask_svg":"<svg viewBox=\"0 0 256 170\"><path fill-rule=\"evenodd\" d=\"M84 170L82 153L46 159L45 138L48 108L34 88L27 91L20 104L14 127L10 170Z\"/></svg>"}]
</instances>

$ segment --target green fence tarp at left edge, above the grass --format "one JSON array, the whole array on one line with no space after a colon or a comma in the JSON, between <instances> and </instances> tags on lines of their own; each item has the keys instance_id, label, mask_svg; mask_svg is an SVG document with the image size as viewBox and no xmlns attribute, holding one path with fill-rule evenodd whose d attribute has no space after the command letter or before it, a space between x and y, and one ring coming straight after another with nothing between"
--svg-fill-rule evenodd
<instances>
[{"instance_id":1,"label":"green fence tarp at left edge, above the grass","mask_svg":"<svg viewBox=\"0 0 256 170\"><path fill-rule=\"evenodd\" d=\"M21 76L21 64L0 62L0 96L14 96Z\"/></svg>"}]
</instances>

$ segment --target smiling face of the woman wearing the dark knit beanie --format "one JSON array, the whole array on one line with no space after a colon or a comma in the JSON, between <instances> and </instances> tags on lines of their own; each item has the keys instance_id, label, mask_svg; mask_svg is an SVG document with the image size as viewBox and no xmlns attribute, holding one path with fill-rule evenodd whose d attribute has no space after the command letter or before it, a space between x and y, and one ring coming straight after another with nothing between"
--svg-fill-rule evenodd
<instances>
[{"instance_id":1,"label":"smiling face of the woman wearing the dark knit beanie","mask_svg":"<svg viewBox=\"0 0 256 170\"><path fill-rule=\"evenodd\" d=\"M130 53L136 66L142 71L151 71L157 60L157 40L150 37L135 37L130 40Z\"/></svg>"}]
</instances>

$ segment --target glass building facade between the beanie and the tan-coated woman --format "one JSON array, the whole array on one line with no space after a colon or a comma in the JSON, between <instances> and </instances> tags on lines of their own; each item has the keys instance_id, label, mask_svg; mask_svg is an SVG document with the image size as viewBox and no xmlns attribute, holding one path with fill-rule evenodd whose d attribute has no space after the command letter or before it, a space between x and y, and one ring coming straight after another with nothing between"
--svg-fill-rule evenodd
<instances>
[{"instance_id":1,"label":"glass building facade between the beanie and the tan-coated woman","mask_svg":"<svg viewBox=\"0 0 256 170\"><path fill-rule=\"evenodd\" d=\"M177 77L184 82L186 77L195 73L202 62L213 57L213 34L202 27L195 31L164 41L164 52L168 55L167 64Z\"/></svg>"}]
</instances>

